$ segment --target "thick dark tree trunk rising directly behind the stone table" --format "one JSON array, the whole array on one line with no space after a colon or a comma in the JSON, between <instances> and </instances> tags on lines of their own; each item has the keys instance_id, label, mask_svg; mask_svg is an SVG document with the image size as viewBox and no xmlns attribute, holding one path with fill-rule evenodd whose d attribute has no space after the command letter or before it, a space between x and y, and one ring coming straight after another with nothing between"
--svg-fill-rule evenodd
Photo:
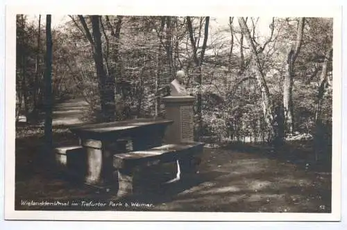
<instances>
[{"instance_id":1,"label":"thick dark tree trunk rising directly behind the stone table","mask_svg":"<svg viewBox=\"0 0 347 230\"><path fill-rule=\"evenodd\" d=\"M115 78L106 76L103 67L103 53L101 45L100 16L92 15L92 28L94 38L94 62L96 75L99 79L102 121L115 121Z\"/></svg>"}]
</instances>

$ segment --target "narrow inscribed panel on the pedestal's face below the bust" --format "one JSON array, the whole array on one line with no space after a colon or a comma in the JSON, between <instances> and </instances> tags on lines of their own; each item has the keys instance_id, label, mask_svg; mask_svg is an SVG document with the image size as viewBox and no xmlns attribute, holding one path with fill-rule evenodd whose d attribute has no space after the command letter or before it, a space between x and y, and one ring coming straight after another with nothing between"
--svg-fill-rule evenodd
<instances>
[{"instance_id":1,"label":"narrow inscribed panel on the pedestal's face below the bust","mask_svg":"<svg viewBox=\"0 0 347 230\"><path fill-rule=\"evenodd\" d=\"M181 139L184 141L193 141L194 139L194 121L193 121L193 107L185 105L180 107L181 117Z\"/></svg>"}]
</instances>

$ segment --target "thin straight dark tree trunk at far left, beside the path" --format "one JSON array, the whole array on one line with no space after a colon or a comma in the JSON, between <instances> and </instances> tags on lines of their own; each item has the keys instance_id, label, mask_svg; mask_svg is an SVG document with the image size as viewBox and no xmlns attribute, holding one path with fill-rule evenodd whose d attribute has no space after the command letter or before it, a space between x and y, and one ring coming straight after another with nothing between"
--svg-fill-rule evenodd
<instances>
[{"instance_id":1,"label":"thin straight dark tree trunk at far left, beside the path","mask_svg":"<svg viewBox=\"0 0 347 230\"><path fill-rule=\"evenodd\" d=\"M46 15L46 74L45 74L45 119L44 119L44 139L46 151L52 150L52 35L51 35L51 15ZM51 157L51 156L50 156Z\"/></svg>"}]
</instances>

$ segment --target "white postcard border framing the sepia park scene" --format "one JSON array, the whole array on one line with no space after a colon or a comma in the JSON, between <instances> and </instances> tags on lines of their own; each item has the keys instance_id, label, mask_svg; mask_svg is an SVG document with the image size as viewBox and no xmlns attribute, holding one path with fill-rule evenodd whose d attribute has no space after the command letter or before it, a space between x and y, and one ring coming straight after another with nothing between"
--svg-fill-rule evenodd
<instances>
[{"instance_id":1,"label":"white postcard border framing the sepia park scene","mask_svg":"<svg viewBox=\"0 0 347 230\"><path fill-rule=\"evenodd\" d=\"M112 5L111 5L112 6ZM260 9L261 8L261 9ZM235 15L334 17L332 213L215 213L160 211L15 211L15 15ZM339 6L7 6L6 8L6 220L142 220L142 221L338 221L341 220L341 7Z\"/></svg>"}]
</instances>

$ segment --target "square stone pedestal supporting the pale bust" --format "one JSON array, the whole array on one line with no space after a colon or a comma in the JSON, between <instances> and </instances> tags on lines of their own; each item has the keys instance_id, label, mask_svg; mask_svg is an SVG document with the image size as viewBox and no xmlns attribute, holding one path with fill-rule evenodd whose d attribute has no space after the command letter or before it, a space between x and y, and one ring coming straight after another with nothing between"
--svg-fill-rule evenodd
<instances>
[{"instance_id":1,"label":"square stone pedestal supporting the pale bust","mask_svg":"<svg viewBox=\"0 0 347 230\"><path fill-rule=\"evenodd\" d=\"M163 98L167 118L174 121L167 128L164 142L183 143L194 141L193 96L167 96Z\"/></svg>"}]
</instances>

